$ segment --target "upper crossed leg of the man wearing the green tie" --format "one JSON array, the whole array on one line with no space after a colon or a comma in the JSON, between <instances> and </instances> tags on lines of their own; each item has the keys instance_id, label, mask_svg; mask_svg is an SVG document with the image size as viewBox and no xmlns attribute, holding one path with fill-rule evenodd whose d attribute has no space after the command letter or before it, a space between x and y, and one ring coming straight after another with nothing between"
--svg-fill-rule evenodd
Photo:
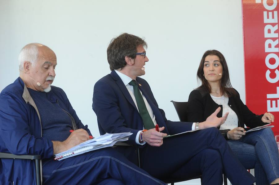
<instances>
[{"instance_id":1,"label":"upper crossed leg of the man wearing the green tie","mask_svg":"<svg viewBox=\"0 0 279 185\"><path fill-rule=\"evenodd\" d=\"M217 128L168 137L163 142L160 147L146 146L141 152L142 168L154 177L170 175L204 149L214 149L221 156L224 172L230 182L237 185L255 182L253 175L237 160Z\"/></svg>"}]
</instances>

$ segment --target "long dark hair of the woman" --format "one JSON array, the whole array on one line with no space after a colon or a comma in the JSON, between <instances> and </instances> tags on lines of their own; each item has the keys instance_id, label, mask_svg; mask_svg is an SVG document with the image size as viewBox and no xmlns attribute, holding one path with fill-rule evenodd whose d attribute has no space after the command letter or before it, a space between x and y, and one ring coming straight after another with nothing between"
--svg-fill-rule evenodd
<instances>
[{"instance_id":1,"label":"long dark hair of the woman","mask_svg":"<svg viewBox=\"0 0 279 185\"><path fill-rule=\"evenodd\" d=\"M217 57L219 57L220 63L223 67L223 74L222 74L222 78L220 81L221 93L223 93L224 95L226 95L228 97L235 96L237 93L232 88L232 84L230 82L230 76L228 73L228 65L227 65L226 59L225 59L224 55L217 50L207 50L203 54L203 56L201 58L200 66L197 71L197 78L199 78L201 80L202 85L198 88L205 88L209 93L211 92L211 87L210 87L208 81L203 76L204 75L204 73L203 73L204 61L208 55L216 55Z\"/></svg>"}]
</instances>

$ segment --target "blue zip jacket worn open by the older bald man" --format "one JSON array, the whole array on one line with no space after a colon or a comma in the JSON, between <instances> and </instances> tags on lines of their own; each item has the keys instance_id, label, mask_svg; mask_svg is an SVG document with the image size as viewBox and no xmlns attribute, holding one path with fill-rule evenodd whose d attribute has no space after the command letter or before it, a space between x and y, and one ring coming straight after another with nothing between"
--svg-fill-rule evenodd
<instances>
[{"instance_id":1,"label":"blue zip jacket worn open by the older bald man","mask_svg":"<svg viewBox=\"0 0 279 185\"><path fill-rule=\"evenodd\" d=\"M71 106L65 92L51 86L48 99L67 111L72 118L73 129L84 128ZM41 159L53 157L53 144L42 137L38 109L21 78L8 85L0 94L0 151L21 154L39 154ZM90 132L89 132L90 133ZM35 164L31 160L1 159L1 184L36 184Z\"/></svg>"}]
</instances>

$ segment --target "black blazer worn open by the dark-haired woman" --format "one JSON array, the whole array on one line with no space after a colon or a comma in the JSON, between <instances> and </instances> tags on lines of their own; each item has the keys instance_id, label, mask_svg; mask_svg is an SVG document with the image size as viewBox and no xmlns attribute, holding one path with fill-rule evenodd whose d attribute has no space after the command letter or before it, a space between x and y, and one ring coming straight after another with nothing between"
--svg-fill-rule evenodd
<instances>
[{"instance_id":1,"label":"black blazer worn open by the dark-haired woman","mask_svg":"<svg viewBox=\"0 0 279 185\"><path fill-rule=\"evenodd\" d=\"M237 90L236 90L237 92ZM262 115L256 115L251 112L246 105L241 101L239 93L237 95L229 97L228 105L235 111L238 117L238 127L244 128L244 124L247 127L255 128L262 126L265 123L262 122ZM188 121L205 121L218 107L221 107L221 111L217 114L217 117L222 117L223 106L218 105L210 97L210 93L203 87L198 87L193 90L189 95L188 107L187 107L187 119ZM227 139L227 130L221 131L224 137Z\"/></svg>"}]
</instances>

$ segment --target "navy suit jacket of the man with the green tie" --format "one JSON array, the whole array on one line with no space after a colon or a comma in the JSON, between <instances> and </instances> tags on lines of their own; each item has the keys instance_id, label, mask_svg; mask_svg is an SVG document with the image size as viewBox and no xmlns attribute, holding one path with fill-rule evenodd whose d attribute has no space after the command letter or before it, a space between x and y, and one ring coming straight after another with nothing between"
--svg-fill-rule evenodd
<instances>
[{"instance_id":1,"label":"navy suit jacket of the man with the green tie","mask_svg":"<svg viewBox=\"0 0 279 185\"><path fill-rule=\"evenodd\" d=\"M172 122L166 119L165 112L159 109L148 83L137 77L139 89L150 104L159 127L165 127L162 132L175 134L192 129L189 122ZM93 93L93 110L97 115L100 134L132 132L127 141L136 145L135 137L143 129L143 121L135 103L121 78L113 70L110 74L96 82Z\"/></svg>"}]
</instances>

